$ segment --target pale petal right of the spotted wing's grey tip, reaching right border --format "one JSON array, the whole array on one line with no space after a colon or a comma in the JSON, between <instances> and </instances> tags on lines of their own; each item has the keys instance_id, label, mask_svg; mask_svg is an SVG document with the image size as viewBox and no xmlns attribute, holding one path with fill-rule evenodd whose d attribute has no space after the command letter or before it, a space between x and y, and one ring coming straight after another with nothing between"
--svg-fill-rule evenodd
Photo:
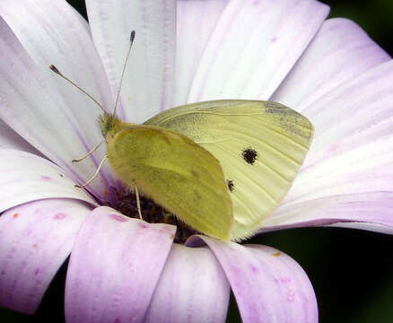
<instances>
[{"instance_id":1,"label":"pale petal right of the spotted wing's grey tip, reaching right border","mask_svg":"<svg viewBox=\"0 0 393 323\"><path fill-rule=\"evenodd\" d=\"M331 149L328 145L337 145L343 139L351 138L362 144L390 134L386 123L391 124L393 117L392 82L393 61L389 60L327 93L305 109L303 114L315 127L312 160L317 153Z\"/></svg>"}]
</instances>

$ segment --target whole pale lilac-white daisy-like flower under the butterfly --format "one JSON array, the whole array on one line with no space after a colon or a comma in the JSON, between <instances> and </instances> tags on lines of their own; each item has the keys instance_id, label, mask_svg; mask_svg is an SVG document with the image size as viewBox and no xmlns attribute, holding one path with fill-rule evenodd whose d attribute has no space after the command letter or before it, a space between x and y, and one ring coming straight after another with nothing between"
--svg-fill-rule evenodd
<instances>
[{"instance_id":1,"label":"whole pale lilac-white daisy-like flower under the butterfly","mask_svg":"<svg viewBox=\"0 0 393 323\"><path fill-rule=\"evenodd\" d=\"M0 3L0 305L34 312L71 253L67 322L223 321L230 290L244 322L317 321L310 281L284 253L202 236L189 242L199 248L173 243L174 226L102 206L118 187L108 166L89 194L74 188L103 154L71 163L100 142L100 111L48 65L111 107L135 29L121 118L236 98L279 101L314 124L293 188L260 231L391 233L390 57L313 0L86 4L89 26L65 1Z\"/></svg>"}]
</instances>

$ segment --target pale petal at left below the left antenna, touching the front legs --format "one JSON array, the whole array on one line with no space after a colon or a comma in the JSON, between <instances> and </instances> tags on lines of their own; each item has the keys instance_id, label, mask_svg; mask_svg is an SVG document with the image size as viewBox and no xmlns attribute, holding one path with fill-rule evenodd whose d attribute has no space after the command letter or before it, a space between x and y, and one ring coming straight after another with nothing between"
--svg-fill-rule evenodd
<instances>
[{"instance_id":1,"label":"pale petal at left below the left antenna, touching the front legs","mask_svg":"<svg viewBox=\"0 0 393 323\"><path fill-rule=\"evenodd\" d=\"M71 161L100 142L98 127L94 130L97 135L87 135L84 131L87 125L94 128L92 116L98 115L97 109L85 118L74 114L74 109L81 107L70 109L65 105L53 85L53 77L57 75L49 78L41 72L1 17L0 48L0 59L7 62L0 65L0 117L39 152L68 170L74 180L85 182L100 160L92 157L78 163ZM104 189L110 186L109 166L101 174L102 184L95 180L89 187L95 196L103 196Z\"/></svg>"}]
</instances>

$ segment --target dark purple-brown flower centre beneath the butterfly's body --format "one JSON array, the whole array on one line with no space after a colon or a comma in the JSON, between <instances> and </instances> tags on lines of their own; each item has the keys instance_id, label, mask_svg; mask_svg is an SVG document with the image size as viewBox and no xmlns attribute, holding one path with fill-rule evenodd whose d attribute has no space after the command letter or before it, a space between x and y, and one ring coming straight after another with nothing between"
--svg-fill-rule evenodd
<instances>
[{"instance_id":1,"label":"dark purple-brown flower centre beneath the butterfly's body","mask_svg":"<svg viewBox=\"0 0 393 323\"><path fill-rule=\"evenodd\" d=\"M138 209L136 207L135 192L128 188L121 191L116 189L118 200L110 206L121 214L130 218L139 219ZM157 205L150 198L140 196L142 218L147 223L167 223L176 225L177 231L174 241L183 244L189 236L200 234L200 232L192 229L186 223L180 221L173 214L170 214L162 206Z\"/></svg>"}]
</instances>

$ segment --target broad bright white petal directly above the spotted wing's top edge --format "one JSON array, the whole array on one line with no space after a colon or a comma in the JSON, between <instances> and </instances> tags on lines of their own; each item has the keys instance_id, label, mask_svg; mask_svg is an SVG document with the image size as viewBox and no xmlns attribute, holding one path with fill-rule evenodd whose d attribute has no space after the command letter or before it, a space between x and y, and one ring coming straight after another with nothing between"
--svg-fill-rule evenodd
<instances>
[{"instance_id":1,"label":"broad bright white petal directly above the spotted wing's top edge","mask_svg":"<svg viewBox=\"0 0 393 323\"><path fill-rule=\"evenodd\" d=\"M267 100L325 20L313 0L231 0L216 23L188 101Z\"/></svg>"}]
</instances>

